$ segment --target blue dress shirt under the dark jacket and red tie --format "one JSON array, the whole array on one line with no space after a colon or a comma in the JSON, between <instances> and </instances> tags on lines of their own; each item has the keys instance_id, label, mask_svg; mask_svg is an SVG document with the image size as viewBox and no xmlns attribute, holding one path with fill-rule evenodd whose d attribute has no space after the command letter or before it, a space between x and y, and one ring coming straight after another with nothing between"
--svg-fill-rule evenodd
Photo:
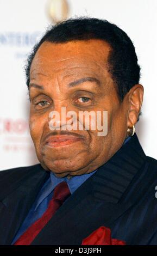
<instances>
[{"instance_id":1,"label":"blue dress shirt under the dark jacket and red tie","mask_svg":"<svg viewBox=\"0 0 157 256\"><path fill-rule=\"evenodd\" d=\"M125 139L124 143L127 143L129 141L130 137ZM16 240L26 231L30 225L32 225L36 220L38 220L43 213L46 211L48 207L48 203L53 197L53 190L54 188L62 181L66 181L68 188L70 189L71 194L77 190L77 188L83 184L88 178L90 178L91 175L93 175L97 171L94 170L91 173L73 176L72 178L68 179L65 178L57 178L52 172L49 175L48 180L43 184L39 194L36 197L36 200L34 204L32 205L32 208L29 210L28 215L24 222L22 223L20 229L17 231L17 234L14 237L14 240L12 241L11 245L13 245Z\"/></svg>"}]
</instances>

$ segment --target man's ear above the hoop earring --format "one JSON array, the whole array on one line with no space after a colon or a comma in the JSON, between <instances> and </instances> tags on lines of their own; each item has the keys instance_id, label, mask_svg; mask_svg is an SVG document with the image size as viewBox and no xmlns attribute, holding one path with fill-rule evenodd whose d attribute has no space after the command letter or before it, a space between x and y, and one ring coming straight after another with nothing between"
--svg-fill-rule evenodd
<instances>
[{"instance_id":1,"label":"man's ear above the hoop earring","mask_svg":"<svg viewBox=\"0 0 157 256\"><path fill-rule=\"evenodd\" d=\"M128 92L129 109L128 109L128 128L132 128L136 124L143 101L143 86L135 84Z\"/></svg>"}]
</instances>

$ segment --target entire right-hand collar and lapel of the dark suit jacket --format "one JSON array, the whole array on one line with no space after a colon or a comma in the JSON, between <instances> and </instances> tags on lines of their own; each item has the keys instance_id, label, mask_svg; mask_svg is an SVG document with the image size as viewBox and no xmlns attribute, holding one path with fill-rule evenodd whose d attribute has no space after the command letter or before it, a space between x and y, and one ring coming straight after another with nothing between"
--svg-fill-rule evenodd
<instances>
[{"instance_id":1,"label":"entire right-hand collar and lapel of the dark suit jacket","mask_svg":"<svg viewBox=\"0 0 157 256\"><path fill-rule=\"evenodd\" d=\"M32 245L78 245L101 225L110 227L134 203L121 202L145 159L134 135L66 200Z\"/></svg>"}]
</instances>

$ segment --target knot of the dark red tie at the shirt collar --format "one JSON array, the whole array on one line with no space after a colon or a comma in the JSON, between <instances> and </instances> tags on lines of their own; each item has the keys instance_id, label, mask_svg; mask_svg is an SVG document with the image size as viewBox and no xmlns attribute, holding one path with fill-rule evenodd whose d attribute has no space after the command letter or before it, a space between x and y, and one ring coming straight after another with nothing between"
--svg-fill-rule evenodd
<instances>
[{"instance_id":1,"label":"knot of the dark red tie at the shirt collar","mask_svg":"<svg viewBox=\"0 0 157 256\"><path fill-rule=\"evenodd\" d=\"M70 194L67 183L62 181L54 188L53 198L64 202Z\"/></svg>"}]
</instances>

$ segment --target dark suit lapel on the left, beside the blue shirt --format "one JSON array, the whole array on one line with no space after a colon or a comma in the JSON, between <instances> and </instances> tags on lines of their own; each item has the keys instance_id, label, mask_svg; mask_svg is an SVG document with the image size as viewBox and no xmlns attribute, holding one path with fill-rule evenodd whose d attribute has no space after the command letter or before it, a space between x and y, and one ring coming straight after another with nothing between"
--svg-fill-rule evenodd
<instances>
[{"instance_id":1,"label":"dark suit lapel on the left, beside the blue shirt","mask_svg":"<svg viewBox=\"0 0 157 256\"><path fill-rule=\"evenodd\" d=\"M2 245L11 243L43 182L49 176L40 164L35 167L37 169L30 168L22 180L17 181L16 184L11 184L10 190L7 188L4 190L4 194L7 193L7 196L0 202L0 218L2 220L0 241Z\"/></svg>"}]
</instances>

